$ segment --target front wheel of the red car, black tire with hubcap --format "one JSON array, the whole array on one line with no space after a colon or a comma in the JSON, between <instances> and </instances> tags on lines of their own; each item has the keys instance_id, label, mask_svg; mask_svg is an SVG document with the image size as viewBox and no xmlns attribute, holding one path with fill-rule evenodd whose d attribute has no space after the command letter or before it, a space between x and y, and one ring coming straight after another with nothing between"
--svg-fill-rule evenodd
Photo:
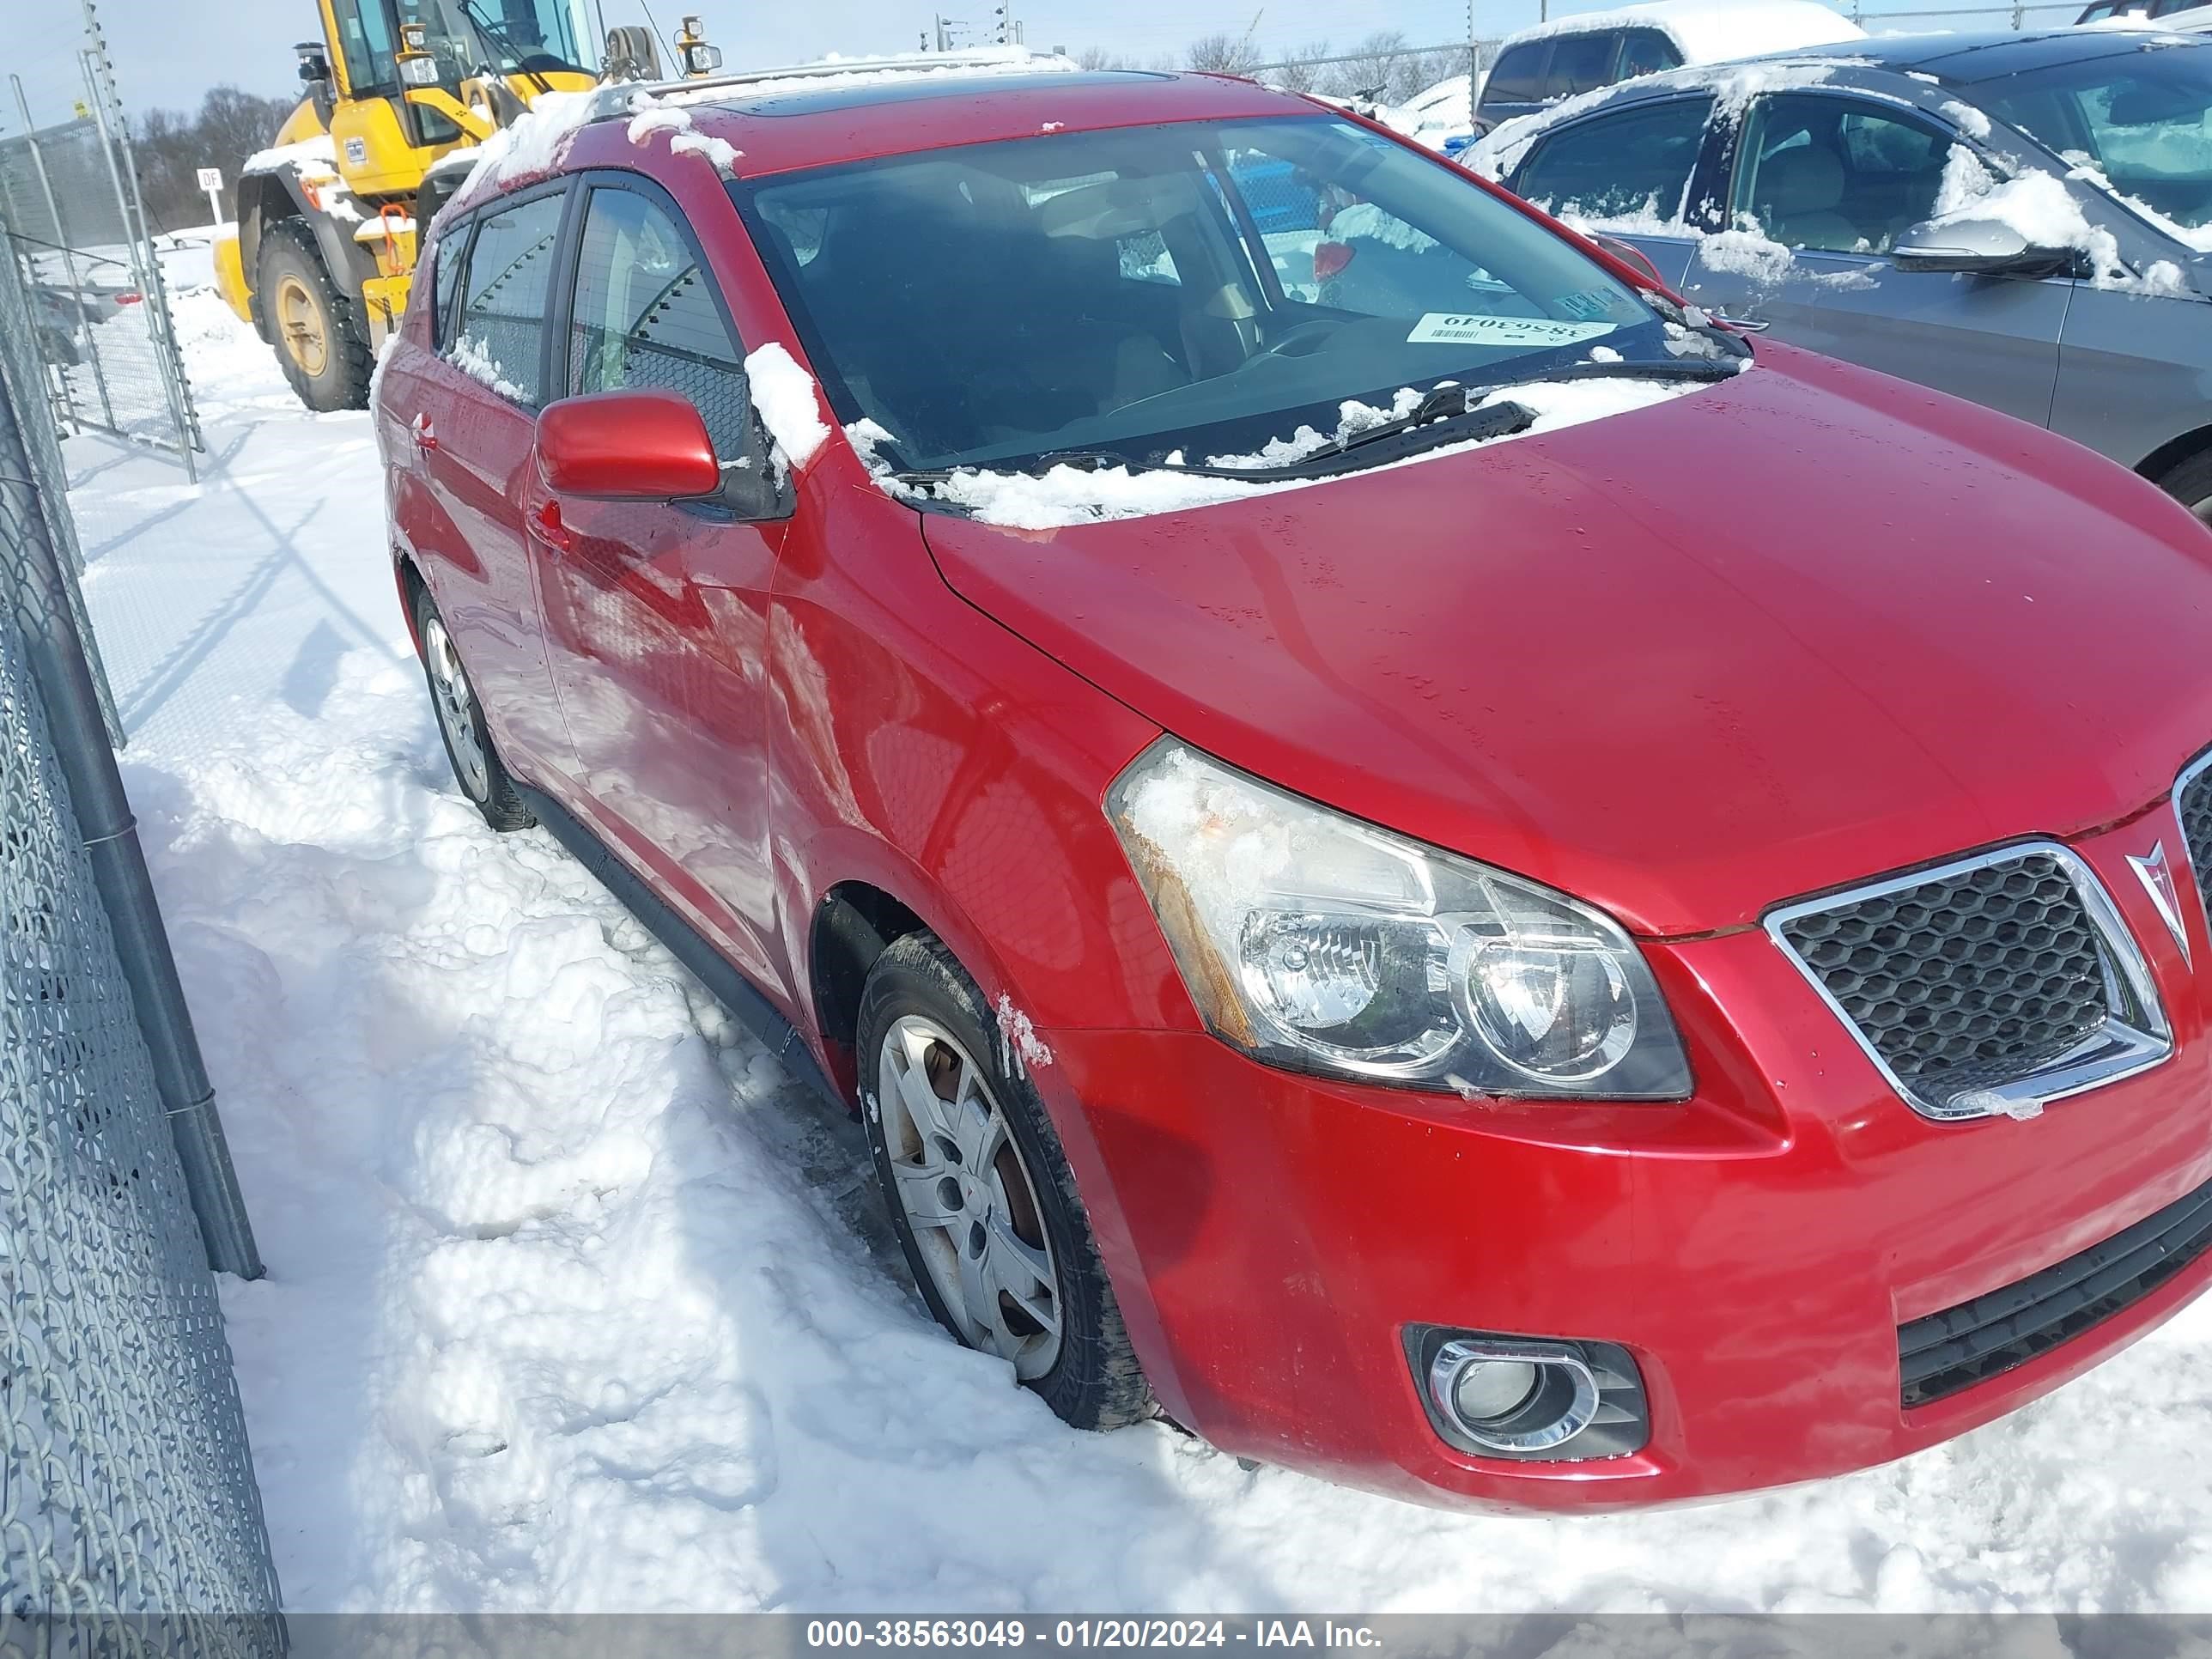
<instances>
[{"instance_id":1,"label":"front wheel of the red car, black tire with hubcap","mask_svg":"<svg viewBox=\"0 0 2212 1659\"><path fill-rule=\"evenodd\" d=\"M1006 1358L1015 1380L1075 1429L1152 1416L1026 1062L936 933L909 933L876 958L860 991L858 1053L876 1181L936 1321L962 1345ZM978 1290L991 1316L971 1312Z\"/></svg>"}]
</instances>

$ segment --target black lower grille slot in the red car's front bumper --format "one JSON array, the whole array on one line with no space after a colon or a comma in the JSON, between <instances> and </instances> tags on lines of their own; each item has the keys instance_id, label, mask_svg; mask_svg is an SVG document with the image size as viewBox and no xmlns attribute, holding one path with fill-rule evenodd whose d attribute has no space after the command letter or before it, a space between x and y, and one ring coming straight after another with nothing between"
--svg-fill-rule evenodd
<instances>
[{"instance_id":1,"label":"black lower grille slot in the red car's front bumper","mask_svg":"<svg viewBox=\"0 0 2212 1659\"><path fill-rule=\"evenodd\" d=\"M1898 1327L1898 1398L1971 1389L2124 1312L2212 1245L2212 1181L2101 1245Z\"/></svg>"}]
</instances>

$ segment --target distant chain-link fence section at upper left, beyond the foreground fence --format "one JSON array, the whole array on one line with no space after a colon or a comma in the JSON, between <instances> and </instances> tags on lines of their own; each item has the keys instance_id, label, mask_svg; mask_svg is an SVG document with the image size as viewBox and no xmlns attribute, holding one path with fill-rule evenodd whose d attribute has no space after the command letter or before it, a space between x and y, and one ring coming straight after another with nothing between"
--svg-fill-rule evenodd
<instances>
[{"instance_id":1,"label":"distant chain-link fence section at upper left, beyond the foreground fence","mask_svg":"<svg viewBox=\"0 0 2212 1659\"><path fill-rule=\"evenodd\" d=\"M0 139L0 226L31 301L60 420L175 449L201 449L192 385L177 347L161 257L137 199L128 126L106 60L80 58L77 119L38 128L20 77L24 131Z\"/></svg>"}]
</instances>

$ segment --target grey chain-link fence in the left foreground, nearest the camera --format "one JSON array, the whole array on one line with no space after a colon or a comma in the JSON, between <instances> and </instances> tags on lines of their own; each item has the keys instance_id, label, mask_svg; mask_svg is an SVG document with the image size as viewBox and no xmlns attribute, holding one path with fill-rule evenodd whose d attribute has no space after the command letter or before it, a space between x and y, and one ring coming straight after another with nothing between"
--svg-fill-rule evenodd
<instances>
[{"instance_id":1,"label":"grey chain-link fence in the left foreground, nearest the camera","mask_svg":"<svg viewBox=\"0 0 2212 1659\"><path fill-rule=\"evenodd\" d=\"M210 1259L259 1272L0 261L0 1659L285 1650ZM166 982L164 982L166 969Z\"/></svg>"}]
</instances>

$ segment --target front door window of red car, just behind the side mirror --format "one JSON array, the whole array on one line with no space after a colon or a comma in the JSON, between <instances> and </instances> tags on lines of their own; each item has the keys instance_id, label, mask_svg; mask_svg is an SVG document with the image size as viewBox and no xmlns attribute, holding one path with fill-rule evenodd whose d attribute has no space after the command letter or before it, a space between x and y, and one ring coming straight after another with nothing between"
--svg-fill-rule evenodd
<instances>
[{"instance_id":1,"label":"front door window of red car, just behind the side mirror","mask_svg":"<svg viewBox=\"0 0 2212 1659\"><path fill-rule=\"evenodd\" d=\"M675 215L637 190L591 192L575 261L568 392L677 392L714 453L748 449L743 354Z\"/></svg>"}]
</instances>

